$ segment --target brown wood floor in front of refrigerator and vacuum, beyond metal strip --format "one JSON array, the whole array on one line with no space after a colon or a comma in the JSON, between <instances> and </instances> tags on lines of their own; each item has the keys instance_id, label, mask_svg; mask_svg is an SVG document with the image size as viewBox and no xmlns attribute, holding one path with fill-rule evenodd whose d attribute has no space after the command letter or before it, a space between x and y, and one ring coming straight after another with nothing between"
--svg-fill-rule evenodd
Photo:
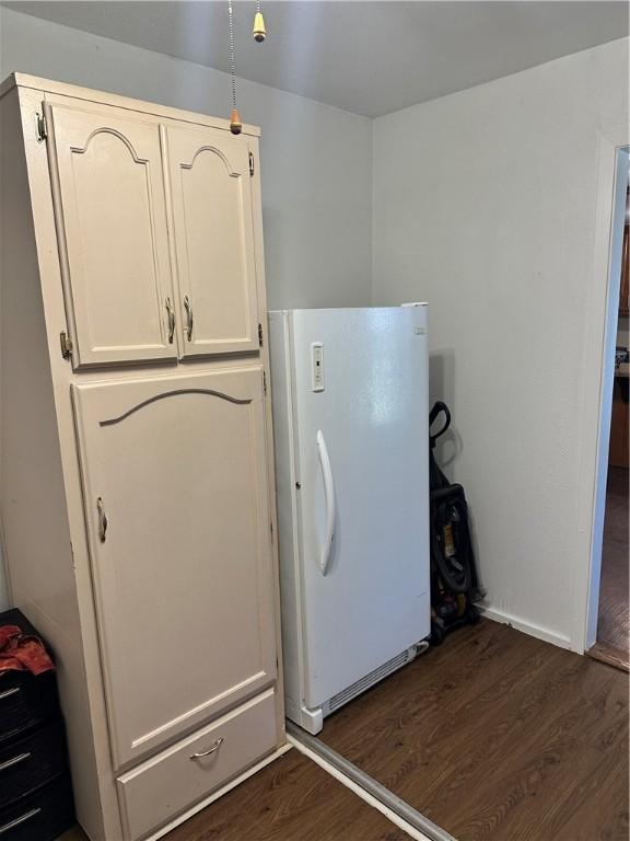
<instances>
[{"instance_id":1,"label":"brown wood floor in front of refrigerator and vacuum, beyond metal strip","mask_svg":"<svg viewBox=\"0 0 630 841\"><path fill-rule=\"evenodd\" d=\"M458 631L322 739L459 841L628 841L627 676L506 625Z\"/></svg>"}]
</instances>

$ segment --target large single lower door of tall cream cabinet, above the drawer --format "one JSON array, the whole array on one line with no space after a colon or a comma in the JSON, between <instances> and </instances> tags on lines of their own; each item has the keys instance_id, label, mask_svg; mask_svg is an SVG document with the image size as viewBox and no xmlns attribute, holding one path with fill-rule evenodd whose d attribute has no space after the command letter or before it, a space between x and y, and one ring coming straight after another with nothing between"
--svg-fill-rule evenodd
<instances>
[{"instance_id":1,"label":"large single lower door of tall cream cabinet, above the drawer","mask_svg":"<svg viewBox=\"0 0 630 841\"><path fill-rule=\"evenodd\" d=\"M276 678L262 371L72 387L114 761Z\"/></svg>"}]
</instances>

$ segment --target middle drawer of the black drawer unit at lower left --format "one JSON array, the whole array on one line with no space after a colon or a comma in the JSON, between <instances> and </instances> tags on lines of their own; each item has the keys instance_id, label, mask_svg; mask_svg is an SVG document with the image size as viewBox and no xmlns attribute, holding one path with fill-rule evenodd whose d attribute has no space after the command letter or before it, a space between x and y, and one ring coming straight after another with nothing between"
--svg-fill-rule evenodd
<instances>
[{"instance_id":1,"label":"middle drawer of the black drawer unit at lower left","mask_svg":"<svg viewBox=\"0 0 630 841\"><path fill-rule=\"evenodd\" d=\"M26 738L0 746L0 808L49 783L67 764L60 718Z\"/></svg>"}]
</instances>

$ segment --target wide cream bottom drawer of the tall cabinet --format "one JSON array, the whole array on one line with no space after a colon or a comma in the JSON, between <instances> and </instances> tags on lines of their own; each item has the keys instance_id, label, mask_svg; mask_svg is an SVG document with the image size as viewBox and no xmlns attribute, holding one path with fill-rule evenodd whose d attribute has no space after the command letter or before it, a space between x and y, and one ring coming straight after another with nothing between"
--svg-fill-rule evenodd
<instances>
[{"instance_id":1,"label":"wide cream bottom drawer of the tall cabinet","mask_svg":"<svg viewBox=\"0 0 630 841\"><path fill-rule=\"evenodd\" d=\"M118 777L125 838L160 827L273 750L273 690Z\"/></svg>"}]
</instances>

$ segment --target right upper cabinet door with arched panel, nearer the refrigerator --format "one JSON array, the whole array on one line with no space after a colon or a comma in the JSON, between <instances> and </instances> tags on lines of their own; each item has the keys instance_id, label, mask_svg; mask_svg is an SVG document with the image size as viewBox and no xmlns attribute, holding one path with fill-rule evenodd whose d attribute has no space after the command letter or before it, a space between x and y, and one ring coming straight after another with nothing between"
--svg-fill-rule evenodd
<instances>
[{"instance_id":1,"label":"right upper cabinet door with arched panel, nearer the refrigerator","mask_svg":"<svg viewBox=\"0 0 630 841\"><path fill-rule=\"evenodd\" d=\"M257 350L247 140L212 128L163 131L184 356Z\"/></svg>"}]
</instances>

